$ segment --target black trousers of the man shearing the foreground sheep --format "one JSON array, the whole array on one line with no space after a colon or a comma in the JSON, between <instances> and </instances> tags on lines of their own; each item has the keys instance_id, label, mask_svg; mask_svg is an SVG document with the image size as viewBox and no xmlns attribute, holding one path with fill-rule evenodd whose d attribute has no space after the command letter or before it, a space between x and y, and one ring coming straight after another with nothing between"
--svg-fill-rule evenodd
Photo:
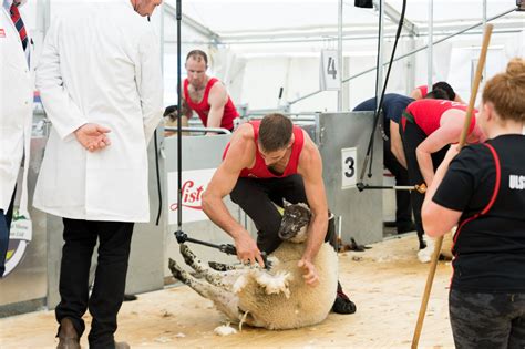
<instances>
[{"instance_id":1,"label":"black trousers of the man shearing the foreground sheep","mask_svg":"<svg viewBox=\"0 0 525 349\"><path fill-rule=\"evenodd\" d=\"M282 207L282 199L286 199L291 204L308 205L302 177L297 174L267 179L240 177L230 193L230 198L254 220L258 230L257 246L267 254L272 253L282 242L278 236L282 217L274 204ZM325 240L329 240L337 249L333 219L328 223Z\"/></svg>"}]
</instances>

